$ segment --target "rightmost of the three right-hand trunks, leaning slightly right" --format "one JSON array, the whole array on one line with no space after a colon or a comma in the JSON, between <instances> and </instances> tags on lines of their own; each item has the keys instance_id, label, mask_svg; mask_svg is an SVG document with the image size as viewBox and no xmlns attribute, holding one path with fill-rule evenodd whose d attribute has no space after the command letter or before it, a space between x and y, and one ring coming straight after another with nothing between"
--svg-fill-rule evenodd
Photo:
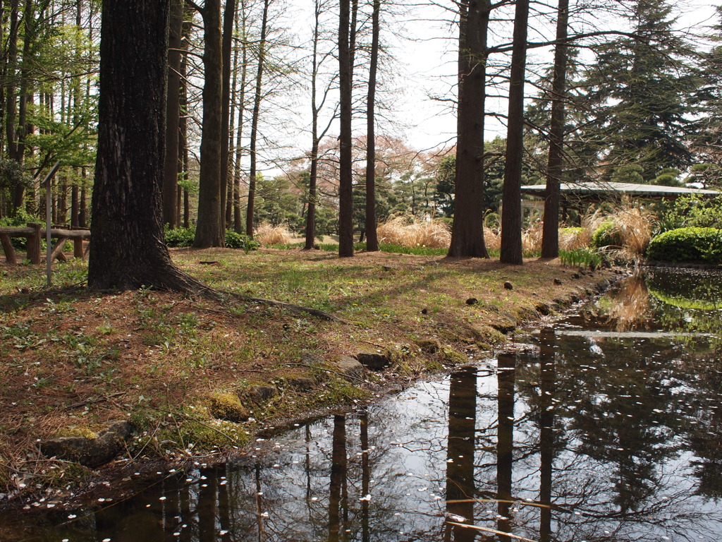
<instances>
[{"instance_id":1,"label":"rightmost of the three right-hand trunks, leaning slightly right","mask_svg":"<svg viewBox=\"0 0 722 542\"><path fill-rule=\"evenodd\" d=\"M544 199L544 223L541 232L541 257L559 256L559 185L564 165L564 119L567 95L567 26L569 0L559 0L557 45L554 48L552 76L552 119L549 126L549 160L547 162L547 197Z\"/></svg>"}]
</instances>

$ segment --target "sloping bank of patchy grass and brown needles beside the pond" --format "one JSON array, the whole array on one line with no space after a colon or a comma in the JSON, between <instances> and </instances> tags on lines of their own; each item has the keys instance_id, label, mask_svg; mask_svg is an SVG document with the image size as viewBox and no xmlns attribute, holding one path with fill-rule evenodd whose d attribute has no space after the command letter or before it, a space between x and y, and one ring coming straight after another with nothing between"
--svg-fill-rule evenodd
<instances>
[{"instance_id":1,"label":"sloping bank of patchy grass and brown needles beside the pond","mask_svg":"<svg viewBox=\"0 0 722 542\"><path fill-rule=\"evenodd\" d=\"M580 274L558 259L507 266L387 253L171 254L218 291L339 321L232 296L100 294L84 288L87 264L73 260L56 264L56 286L47 289L44 267L0 263L0 507L59 506L97 481L97 470L44 457L43 439L94 438L110 422L131 421L135 436L100 469L103 479L103 471L136 469L141 460L222 455L284 423L364 405L483 356L513 341L522 322L591 296L614 276ZM362 350L388 353L391 366L342 378L334 362ZM259 397L268 387L273 394ZM228 421L239 409L250 418Z\"/></svg>"}]
</instances>

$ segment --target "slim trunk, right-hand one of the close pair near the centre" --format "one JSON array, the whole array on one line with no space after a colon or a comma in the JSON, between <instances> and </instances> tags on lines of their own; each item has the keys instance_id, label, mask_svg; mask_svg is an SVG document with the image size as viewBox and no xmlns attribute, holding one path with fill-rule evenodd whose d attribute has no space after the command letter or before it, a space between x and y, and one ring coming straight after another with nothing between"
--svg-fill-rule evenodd
<instances>
[{"instance_id":1,"label":"slim trunk, right-hand one of the close pair near the centre","mask_svg":"<svg viewBox=\"0 0 722 542\"><path fill-rule=\"evenodd\" d=\"M376 234L376 136L375 100L376 69L378 67L378 32L381 1L373 0L371 16L371 57L368 66L368 95L366 100L366 251L378 251Z\"/></svg>"}]
</instances>

